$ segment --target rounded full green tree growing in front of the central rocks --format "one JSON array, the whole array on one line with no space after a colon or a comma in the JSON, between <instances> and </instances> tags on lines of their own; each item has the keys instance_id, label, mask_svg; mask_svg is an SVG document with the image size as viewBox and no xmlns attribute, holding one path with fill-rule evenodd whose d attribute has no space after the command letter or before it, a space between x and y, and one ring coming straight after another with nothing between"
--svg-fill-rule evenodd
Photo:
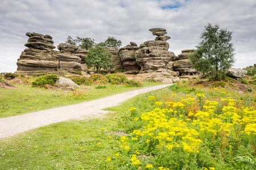
<instances>
[{"instance_id":1,"label":"rounded full green tree growing in front of the central rocks","mask_svg":"<svg viewBox=\"0 0 256 170\"><path fill-rule=\"evenodd\" d=\"M85 58L85 64L89 68L94 67L96 72L99 73L101 69L110 70L114 67L111 59L111 54L102 46L96 45L91 48Z\"/></svg>"}]
</instances>

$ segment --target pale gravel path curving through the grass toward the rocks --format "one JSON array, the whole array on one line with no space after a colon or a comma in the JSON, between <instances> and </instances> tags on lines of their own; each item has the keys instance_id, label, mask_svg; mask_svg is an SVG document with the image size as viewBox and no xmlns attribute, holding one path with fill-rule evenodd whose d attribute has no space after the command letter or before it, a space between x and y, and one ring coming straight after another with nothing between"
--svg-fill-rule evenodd
<instances>
[{"instance_id":1,"label":"pale gravel path curving through the grass toward the rocks","mask_svg":"<svg viewBox=\"0 0 256 170\"><path fill-rule=\"evenodd\" d=\"M159 86L144 87L138 90L124 92L122 94L104 97L98 100L86 101L80 104L47 109L44 111L22 114L20 116L0 118L0 138L9 137L26 130L39 128L55 122L80 119L85 118L86 116L99 117L101 114L108 112L102 111L101 109L103 108L113 107L136 95L158 90L170 85L171 84L162 84Z\"/></svg>"}]
</instances>

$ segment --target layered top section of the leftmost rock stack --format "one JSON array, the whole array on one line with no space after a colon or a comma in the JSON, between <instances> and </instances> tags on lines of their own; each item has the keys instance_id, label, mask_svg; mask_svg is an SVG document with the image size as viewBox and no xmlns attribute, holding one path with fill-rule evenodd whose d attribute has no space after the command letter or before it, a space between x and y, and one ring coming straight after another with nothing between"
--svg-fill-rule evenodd
<instances>
[{"instance_id":1,"label":"layered top section of the leftmost rock stack","mask_svg":"<svg viewBox=\"0 0 256 170\"><path fill-rule=\"evenodd\" d=\"M28 36L27 43L25 46L28 48L35 49L55 49L53 45L52 36L50 35L42 35L40 33L35 32L27 32L26 36Z\"/></svg>"}]
</instances>

